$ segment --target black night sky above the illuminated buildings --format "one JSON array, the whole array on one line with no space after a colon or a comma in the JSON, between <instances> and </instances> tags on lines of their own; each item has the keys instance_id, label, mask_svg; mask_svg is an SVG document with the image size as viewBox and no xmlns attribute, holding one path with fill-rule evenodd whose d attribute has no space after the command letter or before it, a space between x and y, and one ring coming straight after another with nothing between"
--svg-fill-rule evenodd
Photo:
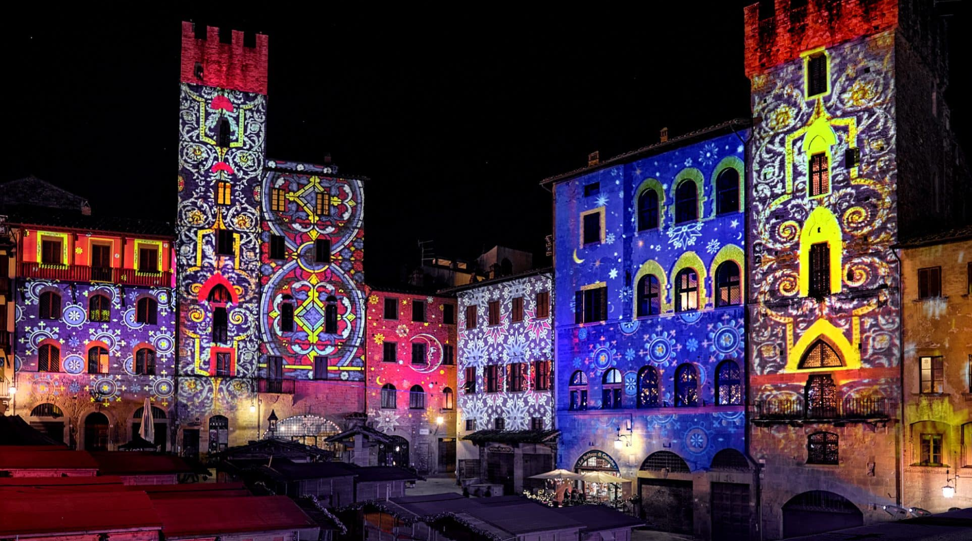
<instances>
[{"instance_id":1,"label":"black night sky above the illuminated buildings","mask_svg":"<svg viewBox=\"0 0 972 541\"><path fill-rule=\"evenodd\" d=\"M171 222L180 20L191 19L269 35L268 158L322 162L330 153L341 172L370 178L368 276L388 281L418 264L419 239L434 240L442 257L471 258L497 243L542 256L542 178L585 165L595 150L606 159L656 142L662 126L675 136L748 116L748 3L576 17L499 8L24 16L0 38L0 181L33 174L87 197L94 213ZM967 27L966 13L958 19ZM972 51L972 33L963 34L954 65ZM951 95L968 95L959 83ZM969 126L969 107L950 101L953 126ZM968 140L968 129L961 135Z\"/></svg>"}]
</instances>

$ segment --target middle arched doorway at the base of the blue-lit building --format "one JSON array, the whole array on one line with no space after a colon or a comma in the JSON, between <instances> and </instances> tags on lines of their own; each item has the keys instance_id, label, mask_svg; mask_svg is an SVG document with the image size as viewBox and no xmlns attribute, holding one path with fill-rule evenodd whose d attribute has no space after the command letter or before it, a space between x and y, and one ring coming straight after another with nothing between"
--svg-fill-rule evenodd
<instances>
[{"instance_id":1,"label":"middle arched doorway at the base of the blue-lit building","mask_svg":"<svg viewBox=\"0 0 972 541\"><path fill-rule=\"evenodd\" d=\"M642 497L642 518L662 531L691 533L693 523L693 486L688 464L672 451L656 451L642 462L642 472L658 472L661 477L638 478ZM681 474L675 479L673 474Z\"/></svg>"}]
</instances>

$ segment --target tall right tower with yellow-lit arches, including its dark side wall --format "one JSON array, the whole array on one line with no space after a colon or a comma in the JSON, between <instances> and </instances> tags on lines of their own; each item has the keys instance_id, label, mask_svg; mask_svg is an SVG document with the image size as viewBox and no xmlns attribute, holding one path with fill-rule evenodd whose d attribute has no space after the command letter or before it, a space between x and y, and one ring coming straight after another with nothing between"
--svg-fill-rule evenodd
<instances>
[{"instance_id":1,"label":"tall right tower with yellow-lit arches, including its dark side wall","mask_svg":"<svg viewBox=\"0 0 972 541\"><path fill-rule=\"evenodd\" d=\"M759 119L747 194L748 443L762 475L785 480L763 485L766 539L889 520L885 505L911 505L898 459L905 344L891 246L967 204L950 165L942 36L932 3L746 8Z\"/></svg>"}]
</instances>

